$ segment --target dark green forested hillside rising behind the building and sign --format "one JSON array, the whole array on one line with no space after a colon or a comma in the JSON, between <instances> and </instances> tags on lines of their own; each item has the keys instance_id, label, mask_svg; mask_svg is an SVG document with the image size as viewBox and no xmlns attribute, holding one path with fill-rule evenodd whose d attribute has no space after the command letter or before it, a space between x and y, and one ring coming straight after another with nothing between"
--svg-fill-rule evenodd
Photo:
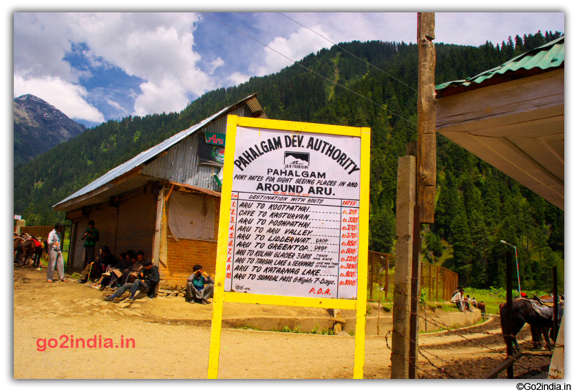
<instances>
[{"instance_id":1,"label":"dark green forested hillside rising behind the building and sign","mask_svg":"<svg viewBox=\"0 0 578 392\"><path fill-rule=\"evenodd\" d=\"M475 76L560 35L524 34L480 47L437 44L436 84ZM407 142L416 140L417 47L381 41L339 45L387 74L337 46L299 63L369 100L292 65L210 91L181 113L109 120L16 168L14 213L27 224L53 224L63 215L52 205L67 195L257 92L269 118L372 128L370 249L394 252L398 157L405 155ZM551 266L564 266L563 211L442 137L437 197L436 224L425 232L430 262L458 272L464 285L502 286L503 239L517 246L522 285L549 290Z\"/></svg>"}]
</instances>

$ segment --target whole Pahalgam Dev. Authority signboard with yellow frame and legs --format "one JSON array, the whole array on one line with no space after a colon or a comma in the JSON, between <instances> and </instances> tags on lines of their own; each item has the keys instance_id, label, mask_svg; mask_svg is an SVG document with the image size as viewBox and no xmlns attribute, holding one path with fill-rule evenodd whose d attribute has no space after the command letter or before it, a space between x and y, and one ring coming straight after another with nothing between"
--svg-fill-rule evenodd
<instances>
[{"instance_id":1,"label":"whole Pahalgam Dev. Authority signboard with yellow frame and legs","mask_svg":"<svg viewBox=\"0 0 578 392\"><path fill-rule=\"evenodd\" d=\"M208 378L224 302L355 309L354 378L363 378L370 137L228 116Z\"/></svg>"}]
</instances>

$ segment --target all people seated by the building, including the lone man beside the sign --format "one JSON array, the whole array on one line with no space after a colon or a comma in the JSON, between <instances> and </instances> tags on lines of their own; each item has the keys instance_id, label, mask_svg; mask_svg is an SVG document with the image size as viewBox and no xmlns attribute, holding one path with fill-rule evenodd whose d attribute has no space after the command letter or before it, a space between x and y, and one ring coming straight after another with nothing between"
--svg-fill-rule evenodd
<instances>
[{"instance_id":1,"label":"all people seated by the building, including the lone man beside the sign","mask_svg":"<svg viewBox=\"0 0 578 392\"><path fill-rule=\"evenodd\" d=\"M149 297L154 295L155 286L160 281L158 267L149 259L144 259L144 252L128 250L120 254L120 260L111 253L108 246L100 248L100 255L94 263L87 263L81 272L77 283L90 283L90 279L98 279L91 287L96 290L114 291L114 294L104 297L105 301L118 303L120 296L127 290L130 295L127 301L134 301L136 292L146 292ZM213 297L215 280L208 276L202 265L193 267L193 274L186 283L185 299L189 303L208 304L208 298Z\"/></svg>"}]
</instances>

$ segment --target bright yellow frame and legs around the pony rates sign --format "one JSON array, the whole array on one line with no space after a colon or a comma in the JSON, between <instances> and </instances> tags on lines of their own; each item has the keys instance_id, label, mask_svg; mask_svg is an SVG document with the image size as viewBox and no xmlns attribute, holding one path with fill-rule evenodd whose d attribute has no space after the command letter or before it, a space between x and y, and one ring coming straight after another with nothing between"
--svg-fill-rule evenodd
<instances>
[{"instance_id":1,"label":"bright yellow frame and legs around the pony rates sign","mask_svg":"<svg viewBox=\"0 0 578 392\"><path fill-rule=\"evenodd\" d=\"M357 263L357 298L310 298L301 296L279 296L225 292L225 268L227 259L227 236L229 214L231 209L231 191L233 186L233 160L235 158L235 138L237 126L261 129L278 129L292 132L328 133L331 135L356 136L361 138L361 183L359 195L359 251ZM219 239L217 242L217 265L215 271L215 293L213 298L213 317L211 320L211 343L208 352L207 378L217 378L221 350L221 327L223 303L254 303L261 305L284 305L301 307L323 307L326 309L356 310L355 352L353 378L363 378L365 361L365 313L367 306L367 250L370 223L370 128L341 127L338 125L312 124L247 118L229 115L227 118L227 146L221 193L221 210L219 219Z\"/></svg>"}]
</instances>

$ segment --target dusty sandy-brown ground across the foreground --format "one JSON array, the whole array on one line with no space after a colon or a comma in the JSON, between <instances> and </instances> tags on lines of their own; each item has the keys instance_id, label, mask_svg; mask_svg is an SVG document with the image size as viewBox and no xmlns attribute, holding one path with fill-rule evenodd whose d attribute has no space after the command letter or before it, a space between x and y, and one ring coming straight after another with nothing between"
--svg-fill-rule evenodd
<instances>
[{"instance_id":1,"label":"dusty sandy-brown ground across the foreground","mask_svg":"<svg viewBox=\"0 0 578 392\"><path fill-rule=\"evenodd\" d=\"M45 283L44 270L15 268L14 378L206 378L210 324L203 315L211 313L210 305L186 304L183 298L141 298L127 307L123 303L105 302L101 297L102 293L84 285ZM180 312L169 312L169 301L174 301L173 308L178 308L171 312ZM167 314L164 320L161 308ZM304 316L327 314L325 309L299 309L237 305L226 307L224 317L287 316L288 312L295 316L301 312L305 312ZM188 323L179 321L177 316ZM167 317L171 321L167 322ZM191 323L195 318L198 322ZM483 377L504 358L499 333L499 323L493 320L461 329L460 334L469 340L448 332L420 336L423 355L435 365L420 357L420 377ZM103 345L105 338L111 338L113 348L70 347L65 342L67 338L61 338L63 335L74 336L74 340L96 335ZM136 347L114 347L120 345L120 336L134 339ZM390 377L391 351L387 346L390 336L367 336L365 378ZM528 339L529 330L524 329L522 336ZM38 340L50 338L67 348L47 347L39 351ZM519 341L529 345L524 338ZM352 336L224 328L219 376L352 378L353 353ZM529 377L549 363L549 358L527 359L515 367L515 375Z\"/></svg>"}]
</instances>

